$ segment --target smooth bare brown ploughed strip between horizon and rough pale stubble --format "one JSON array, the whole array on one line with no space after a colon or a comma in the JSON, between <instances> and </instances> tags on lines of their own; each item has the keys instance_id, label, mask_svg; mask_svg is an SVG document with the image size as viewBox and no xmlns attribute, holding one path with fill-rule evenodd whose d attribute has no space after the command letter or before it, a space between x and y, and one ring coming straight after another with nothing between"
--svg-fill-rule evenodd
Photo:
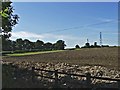
<instances>
[{"instance_id":1,"label":"smooth bare brown ploughed strip between horizon and rough pale stubble","mask_svg":"<svg viewBox=\"0 0 120 90\"><path fill-rule=\"evenodd\" d=\"M65 50L62 52L49 52L22 56L3 57L3 61L21 62L64 62L79 65L102 65L118 67L118 48L83 48L79 50Z\"/></svg>"}]
</instances>

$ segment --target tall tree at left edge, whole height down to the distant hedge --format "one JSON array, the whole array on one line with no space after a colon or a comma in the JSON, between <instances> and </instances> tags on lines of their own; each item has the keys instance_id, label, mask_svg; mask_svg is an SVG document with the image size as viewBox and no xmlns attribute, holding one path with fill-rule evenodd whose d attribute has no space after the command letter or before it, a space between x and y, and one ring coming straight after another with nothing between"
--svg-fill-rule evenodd
<instances>
[{"instance_id":1,"label":"tall tree at left edge, whole height down to the distant hedge","mask_svg":"<svg viewBox=\"0 0 120 90\"><path fill-rule=\"evenodd\" d=\"M14 8L11 5L12 2L2 2L2 8L0 10L0 17L2 25L0 26L0 33L2 38L3 50L7 47L9 37L11 36L12 28L18 24L18 15L13 14Z\"/></svg>"}]
</instances>

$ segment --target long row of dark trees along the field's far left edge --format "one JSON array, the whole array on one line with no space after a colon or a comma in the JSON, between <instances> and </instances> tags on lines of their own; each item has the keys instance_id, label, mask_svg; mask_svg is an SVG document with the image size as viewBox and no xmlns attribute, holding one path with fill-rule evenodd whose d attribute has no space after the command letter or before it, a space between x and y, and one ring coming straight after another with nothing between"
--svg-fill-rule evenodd
<instances>
[{"instance_id":1,"label":"long row of dark trees along the field's far left edge","mask_svg":"<svg viewBox=\"0 0 120 90\"><path fill-rule=\"evenodd\" d=\"M6 40L3 43L2 49L3 51L47 51L47 50L64 50L65 41L58 40L56 43L43 42L41 40L37 40L36 42L32 42L28 39L16 39L16 41Z\"/></svg>"}]
</instances>

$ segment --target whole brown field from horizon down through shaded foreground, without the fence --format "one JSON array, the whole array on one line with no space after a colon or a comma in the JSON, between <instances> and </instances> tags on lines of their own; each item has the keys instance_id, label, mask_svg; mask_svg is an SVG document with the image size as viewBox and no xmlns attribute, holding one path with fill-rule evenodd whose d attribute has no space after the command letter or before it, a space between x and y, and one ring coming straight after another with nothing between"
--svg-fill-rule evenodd
<instances>
[{"instance_id":1,"label":"whole brown field from horizon down through shaded foreground, without the fence","mask_svg":"<svg viewBox=\"0 0 120 90\"><path fill-rule=\"evenodd\" d=\"M30 71L32 67L84 75L86 71L89 71L93 76L96 76L98 72L102 71L103 77L119 79L120 70L116 70L118 69L118 66L118 48L84 48L79 50L65 50L40 54L32 53L30 55L13 54L3 57L2 83L4 88L45 88L46 85L47 88L54 87L56 82L51 79L35 77L35 81L33 81L31 78L33 74L31 74ZM40 71L34 71L34 73L49 77L54 75L53 73L40 73ZM63 75L61 76L58 85L61 88L86 88L85 83L84 78L70 78L69 75ZM116 88L118 87L117 85L118 84L113 81L92 81L92 87L95 88Z\"/></svg>"}]
</instances>

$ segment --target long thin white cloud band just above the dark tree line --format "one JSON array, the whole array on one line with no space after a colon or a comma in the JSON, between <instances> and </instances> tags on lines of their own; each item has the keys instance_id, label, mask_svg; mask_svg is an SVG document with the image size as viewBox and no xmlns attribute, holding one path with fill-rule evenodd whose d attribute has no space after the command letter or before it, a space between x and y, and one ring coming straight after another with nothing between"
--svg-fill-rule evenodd
<instances>
[{"instance_id":1,"label":"long thin white cloud band just above the dark tree line","mask_svg":"<svg viewBox=\"0 0 120 90\"><path fill-rule=\"evenodd\" d=\"M26 32L26 31L19 31L19 32L12 32L12 40L15 40L17 38L27 38L27 39L78 39L78 37L72 37L69 35L56 35L56 34L36 34L32 32Z\"/></svg>"}]
</instances>

